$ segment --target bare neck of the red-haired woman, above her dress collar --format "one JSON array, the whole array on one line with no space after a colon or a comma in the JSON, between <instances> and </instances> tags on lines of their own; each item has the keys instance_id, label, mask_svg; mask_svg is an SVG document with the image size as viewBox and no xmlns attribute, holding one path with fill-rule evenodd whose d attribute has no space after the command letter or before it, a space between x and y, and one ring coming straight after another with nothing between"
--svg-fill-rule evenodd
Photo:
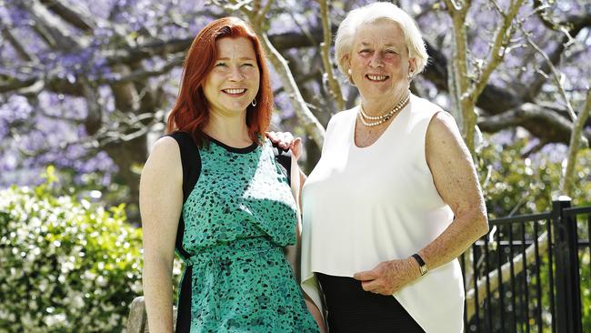
<instances>
[{"instance_id":1,"label":"bare neck of the red-haired woman, above her dress collar","mask_svg":"<svg viewBox=\"0 0 591 333\"><path fill-rule=\"evenodd\" d=\"M222 116L210 111L209 121L205 125L204 132L207 136L228 146L245 147L253 143L253 140L248 136L246 112L236 116Z\"/></svg>"}]
</instances>

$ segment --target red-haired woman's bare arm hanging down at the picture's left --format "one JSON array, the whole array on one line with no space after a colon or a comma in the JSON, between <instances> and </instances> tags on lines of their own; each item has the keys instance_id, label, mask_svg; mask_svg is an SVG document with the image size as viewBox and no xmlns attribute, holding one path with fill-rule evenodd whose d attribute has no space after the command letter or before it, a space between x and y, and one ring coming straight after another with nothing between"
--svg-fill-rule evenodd
<instances>
[{"instance_id":1,"label":"red-haired woman's bare arm hanging down at the picture's left","mask_svg":"<svg viewBox=\"0 0 591 333\"><path fill-rule=\"evenodd\" d=\"M175 139L159 139L140 180L144 295L150 332L173 332L172 269L183 205L183 167Z\"/></svg>"}]
</instances>

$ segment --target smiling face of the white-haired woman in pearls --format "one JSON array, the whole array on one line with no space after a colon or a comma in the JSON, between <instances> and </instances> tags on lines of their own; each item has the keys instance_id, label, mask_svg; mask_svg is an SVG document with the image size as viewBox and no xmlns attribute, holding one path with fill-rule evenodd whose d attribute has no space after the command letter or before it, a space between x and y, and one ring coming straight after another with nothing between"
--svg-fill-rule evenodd
<instances>
[{"instance_id":1,"label":"smiling face of the white-haired woman in pearls","mask_svg":"<svg viewBox=\"0 0 591 333\"><path fill-rule=\"evenodd\" d=\"M362 25L356 33L348 64L364 99L399 96L408 89L409 59L405 35L388 21Z\"/></svg>"}]
</instances>

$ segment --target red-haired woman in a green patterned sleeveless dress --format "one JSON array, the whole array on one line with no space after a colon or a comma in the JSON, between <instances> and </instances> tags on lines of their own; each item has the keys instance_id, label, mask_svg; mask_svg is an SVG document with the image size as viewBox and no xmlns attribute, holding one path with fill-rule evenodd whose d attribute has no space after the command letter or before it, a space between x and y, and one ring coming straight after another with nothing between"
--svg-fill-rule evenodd
<instances>
[{"instance_id":1,"label":"red-haired woman in a green patterned sleeveless dress","mask_svg":"<svg viewBox=\"0 0 591 333\"><path fill-rule=\"evenodd\" d=\"M185 262L176 332L317 332L284 254L295 198L265 138L265 54L235 17L205 26L140 184L151 332L172 332L174 252ZM288 174L289 175L289 174Z\"/></svg>"}]
</instances>

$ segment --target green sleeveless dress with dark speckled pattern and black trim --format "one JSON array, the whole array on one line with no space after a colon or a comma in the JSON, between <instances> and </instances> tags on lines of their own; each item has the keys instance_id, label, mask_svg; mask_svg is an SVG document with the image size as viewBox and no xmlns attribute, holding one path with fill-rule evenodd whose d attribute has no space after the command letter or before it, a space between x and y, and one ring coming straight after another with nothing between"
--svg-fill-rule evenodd
<instances>
[{"instance_id":1,"label":"green sleeveless dress with dark speckled pattern and black trim","mask_svg":"<svg viewBox=\"0 0 591 333\"><path fill-rule=\"evenodd\" d=\"M273 147L197 149L185 133L185 260L176 332L317 332L283 247L295 244L295 201Z\"/></svg>"}]
</instances>

